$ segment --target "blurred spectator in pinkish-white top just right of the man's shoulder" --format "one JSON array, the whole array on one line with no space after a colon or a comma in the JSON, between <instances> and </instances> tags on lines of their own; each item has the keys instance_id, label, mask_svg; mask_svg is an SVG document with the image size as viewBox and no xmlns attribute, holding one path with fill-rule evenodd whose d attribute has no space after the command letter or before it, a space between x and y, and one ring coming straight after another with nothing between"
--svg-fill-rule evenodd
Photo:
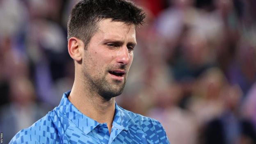
<instances>
[{"instance_id":1,"label":"blurred spectator in pinkish-white top just right of the man's shoulder","mask_svg":"<svg viewBox=\"0 0 256 144\"><path fill-rule=\"evenodd\" d=\"M162 123L171 144L197 144L197 121L191 112L179 107L181 98L181 87L170 84L156 94L155 105L147 115Z\"/></svg>"}]
</instances>

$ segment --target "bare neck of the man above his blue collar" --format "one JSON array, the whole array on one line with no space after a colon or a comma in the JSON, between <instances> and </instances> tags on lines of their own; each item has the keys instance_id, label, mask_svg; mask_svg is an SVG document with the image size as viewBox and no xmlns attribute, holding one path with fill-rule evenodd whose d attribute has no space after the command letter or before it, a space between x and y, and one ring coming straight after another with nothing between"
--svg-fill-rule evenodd
<instances>
[{"instance_id":1,"label":"bare neck of the man above his blue collar","mask_svg":"<svg viewBox=\"0 0 256 144\"><path fill-rule=\"evenodd\" d=\"M78 85L76 80L68 98L82 114L99 123L107 123L109 133L111 132L115 112L114 98L106 101L96 92L85 88L84 85Z\"/></svg>"}]
</instances>

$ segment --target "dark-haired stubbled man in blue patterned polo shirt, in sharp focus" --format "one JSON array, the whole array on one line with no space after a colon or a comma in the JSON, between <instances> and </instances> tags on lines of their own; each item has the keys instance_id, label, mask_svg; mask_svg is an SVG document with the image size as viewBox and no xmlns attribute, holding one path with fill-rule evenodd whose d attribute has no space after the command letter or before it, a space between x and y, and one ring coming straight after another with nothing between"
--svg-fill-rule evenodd
<instances>
[{"instance_id":1,"label":"dark-haired stubbled man in blue patterned polo shirt, in sharp focus","mask_svg":"<svg viewBox=\"0 0 256 144\"><path fill-rule=\"evenodd\" d=\"M115 103L136 45L142 9L126 0L82 0L68 23L75 80L58 107L11 140L57 144L168 144L162 125Z\"/></svg>"}]
</instances>

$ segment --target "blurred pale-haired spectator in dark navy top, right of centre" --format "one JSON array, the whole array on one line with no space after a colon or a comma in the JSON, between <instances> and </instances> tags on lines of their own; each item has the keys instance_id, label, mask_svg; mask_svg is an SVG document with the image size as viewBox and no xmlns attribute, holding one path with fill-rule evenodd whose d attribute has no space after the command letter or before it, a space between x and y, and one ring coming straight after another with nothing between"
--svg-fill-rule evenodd
<instances>
[{"instance_id":1,"label":"blurred pale-haired spectator in dark navy top, right of centre","mask_svg":"<svg viewBox=\"0 0 256 144\"><path fill-rule=\"evenodd\" d=\"M183 99L180 105L187 108L196 82L205 71L215 65L215 52L206 35L198 28L185 28L178 48L178 56L169 62L171 72L182 87Z\"/></svg>"}]
</instances>

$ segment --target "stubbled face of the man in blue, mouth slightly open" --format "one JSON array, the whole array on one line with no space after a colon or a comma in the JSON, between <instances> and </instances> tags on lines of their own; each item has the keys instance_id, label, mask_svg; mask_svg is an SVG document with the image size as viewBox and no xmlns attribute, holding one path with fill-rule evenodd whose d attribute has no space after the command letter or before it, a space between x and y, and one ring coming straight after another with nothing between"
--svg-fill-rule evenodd
<instances>
[{"instance_id":1,"label":"stubbled face of the man in blue, mouth slightly open","mask_svg":"<svg viewBox=\"0 0 256 144\"><path fill-rule=\"evenodd\" d=\"M82 58L82 78L90 91L109 100L122 93L136 45L135 25L103 19Z\"/></svg>"}]
</instances>

